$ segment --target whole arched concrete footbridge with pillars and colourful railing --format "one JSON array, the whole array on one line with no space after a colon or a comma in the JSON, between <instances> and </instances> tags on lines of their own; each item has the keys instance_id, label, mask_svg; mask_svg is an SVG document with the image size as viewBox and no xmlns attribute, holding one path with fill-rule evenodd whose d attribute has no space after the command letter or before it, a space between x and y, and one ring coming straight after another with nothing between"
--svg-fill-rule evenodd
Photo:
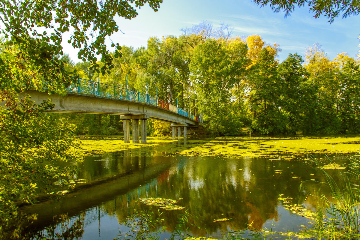
<instances>
[{"instance_id":1,"label":"whole arched concrete footbridge with pillars and colourful railing","mask_svg":"<svg viewBox=\"0 0 360 240\"><path fill-rule=\"evenodd\" d=\"M87 81L94 85L94 81ZM199 122L202 122L202 114L199 114L199 117L194 117L191 112L189 114L172 104L158 100L157 97L154 98L155 101L151 101L151 96L143 94L145 97L140 100L140 94L142 93L129 89L117 91L118 89L114 86L112 86L113 90L110 90L112 93L103 92L100 83L94 83L96 87L93 87L92 92L89 89L86 89L87 92L81 91L79 83L69 86L65 96L49 95L48 92L39 91L27 91L26 93L31 96L31 99L36 104L48 99L53 101L55 107L48 110L48 112L120 115L120 119L123 120L125 143L130 142L130 120L132 123L133 143L147 142L146 123L149 118L171 123L172 137L175 137L176 130L177 137L181 137L181 128L183 128L183 136L186 137L187 127L198 127ZM106 89L108 90L109 87ZM125 91L126 94L124 94ZM117 95L118 92L119 95ZM136 94L133 94L133 92ZM189 115L190 117L188 117Z\"/></svg>"}]
</instances>

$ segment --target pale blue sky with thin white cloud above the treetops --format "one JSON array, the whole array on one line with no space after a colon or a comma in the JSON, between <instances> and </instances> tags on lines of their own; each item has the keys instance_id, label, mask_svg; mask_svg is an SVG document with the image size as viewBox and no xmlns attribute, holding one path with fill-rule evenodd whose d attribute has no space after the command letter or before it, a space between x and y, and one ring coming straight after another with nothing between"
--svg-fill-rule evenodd
<instances>
[{"instance_id":1,"label":"pale blue sky with thin white cloud above the treetops","mask_svg":"<svg viewBox=\"0 0 360 240\"><path fill-rule=\"evenodd\" d=\"M123 33L113 34L112 41L134 48L146 46L149 37L179 36L181 28L206 20L214 27L221 22L231 25L233 36L258 34L268 44L276 42L282 49L280 61L289 53L303 55L305 49L316 42L330 59L342 52L356 58L359 51L360 15L336 18L329 24L326 18L315 19L307 7L302 7L284 18L284 13L273 13L269 6L260 8L251 0L164 0L158 12L144 6L138 13L138 17L131 20L116 19ZM77 51L64 47L77 61Z\"/></svg>"}]
</instances>

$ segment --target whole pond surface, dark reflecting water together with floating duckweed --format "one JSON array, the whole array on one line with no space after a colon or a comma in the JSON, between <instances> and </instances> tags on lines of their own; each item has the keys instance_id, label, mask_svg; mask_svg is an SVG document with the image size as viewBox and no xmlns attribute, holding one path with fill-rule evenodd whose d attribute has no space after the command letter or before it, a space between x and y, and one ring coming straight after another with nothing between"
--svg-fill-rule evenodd
<instances>
[{"instance_id":1,"label":"whole pond surface, dark reflecting water together with floating duckweed","mask_svg":"<svg viewBox=\"0 0 360 240\"><path fill-rule=\"evenodd\" d=\"M249 225L298 231L309 224L318 182L324 181L313 158L324 166L329 159L339 164L327 165L335 176L360 149L360 136L163 137L127 145L121 137L86 137L83 142L87 156L77 176L83 183L61 201L22 207L38 215L26 227L27 238L114 239L129 232L129 224L143 224L139 217L156 222L160 215L156 223L165 231L159 237L166 239L184 214L192 236L222 239ZM305 180L315 181L299 189ZM329 195L326 189L321 194Z\"/></svg>"}]
</instances>

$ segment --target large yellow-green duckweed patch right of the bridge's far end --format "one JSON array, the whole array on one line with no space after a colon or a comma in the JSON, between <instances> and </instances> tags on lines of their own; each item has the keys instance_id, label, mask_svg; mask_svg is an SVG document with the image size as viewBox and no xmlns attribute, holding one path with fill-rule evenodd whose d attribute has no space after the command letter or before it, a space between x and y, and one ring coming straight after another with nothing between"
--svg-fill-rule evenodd
<instances>
[{"instance_id":1,"label":"large yellow-green duckweed patch right of the bridge's far end","mask_svg":"<svg viewBox=\"0 0 360 240\"><path fill-rule=\"evenodd\" d=\"M302 153L356 153L360 149L359 137L218 137L213 140L188 141L187 146L183 150L179 149L179 154L233 158L270 157L271 160L292 160L294 154Z\"/></svg>"}]
</instances>

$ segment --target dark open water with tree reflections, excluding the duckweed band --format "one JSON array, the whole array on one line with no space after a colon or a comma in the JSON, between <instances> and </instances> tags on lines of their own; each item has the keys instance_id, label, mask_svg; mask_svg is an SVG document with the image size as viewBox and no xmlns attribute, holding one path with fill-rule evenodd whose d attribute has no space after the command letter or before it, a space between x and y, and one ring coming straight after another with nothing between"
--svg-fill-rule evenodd
<instances>
[{"instance_id":1,"label":"dark open water with tree reflections, excluding the duckweed band","mask_svg":"<svg viewBox=\"0 0 360 240\"><path fill-rule=\"evenodd\" d=\"M38 214L37 221L25 228L26 237L114 239L119 232L128 231L125 218L139 209L162 212L166 232L160 239L170 236L185 210L193 216L191 235L219 239L227 231L244 230L251 223L257 229L272 227L283 232L309 224L308 218L285 209L279 199L289 197L291 204L315 210L317 199L311 195L318 194L319 185L309 181L301 190L299 185L304 180L324 180L306 150L293 154L291 160L283 160L281 155L274 158L274 154L268 158L179 154L179 149L201 148L204 142L180 139L87 156L77 176L86 183L61 201L46 200L21 209ZM329 157L347 164L348 155ZM315 153L314 157L328 163L325 154ZM328 171L335 174L338 170ZM328 195L326 190L322 194ZM181 199L176 204L184 209L167 211L140 203L140 198ZM219 218L228 220L214 222Z\"/></svg>"}]
</instances>

